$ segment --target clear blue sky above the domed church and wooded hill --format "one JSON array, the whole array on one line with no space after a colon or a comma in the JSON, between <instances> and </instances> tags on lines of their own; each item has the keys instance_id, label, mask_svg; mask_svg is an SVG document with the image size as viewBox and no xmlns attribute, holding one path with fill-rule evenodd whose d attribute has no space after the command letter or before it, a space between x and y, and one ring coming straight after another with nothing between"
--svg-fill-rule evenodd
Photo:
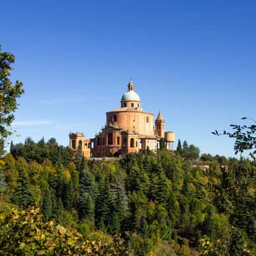
<instances>
[{"instance_id":1,"label":"clear blue sky above the domed church and wooded hill","mask_svg":"<svg viewBox=\"0 0 256 256\"><path fill-rule=\"evenodd\" d=\"M256 118L256 1L2 1L2 51L24 83L13 125L24 141L93 138L130 77L143 109L201 152L233 156L213 136Z\"/></svg>"}]
</instances>

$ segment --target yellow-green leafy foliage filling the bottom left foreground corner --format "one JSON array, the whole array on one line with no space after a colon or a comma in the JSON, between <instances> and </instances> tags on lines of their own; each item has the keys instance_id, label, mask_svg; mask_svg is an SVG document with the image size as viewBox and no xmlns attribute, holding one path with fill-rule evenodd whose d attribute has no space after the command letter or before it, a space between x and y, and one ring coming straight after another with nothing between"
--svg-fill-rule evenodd
<instances>
[{"instance_id":1,"label":"yellow-green leafy foliage filling the bottom left foreground corner","mask_svg":"<svg viewBox=\"0 0 256 256\"><path fill-rule=\"evenodd\" d=\"M13 209L1 218L1 255L131 255L119 236L95 233L95 239L84 239L77 230L44 222L39 212Z\"/></svg>"}]
</instances>

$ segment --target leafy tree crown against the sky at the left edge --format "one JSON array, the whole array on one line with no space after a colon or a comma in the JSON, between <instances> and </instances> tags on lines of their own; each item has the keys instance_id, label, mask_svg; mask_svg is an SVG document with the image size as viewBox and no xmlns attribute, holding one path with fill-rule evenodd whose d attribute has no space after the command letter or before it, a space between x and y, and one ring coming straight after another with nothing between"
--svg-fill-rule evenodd
<instances>
[{"instance_id":1,"label":"leafy tree crown against the sky at the left edge","mask_svg":"<svg viewBox=\"0 0 256 256\"><path fill-rule=\"evenodd\" d=\"M0 155L4 154L4 142L12 134L10 125L14 120L13 112L17 109L19 98L24 93L22 83L14 84L10 79L15 57L10 52L2 52L0 45Z\"/></svg>"}]
</instances>

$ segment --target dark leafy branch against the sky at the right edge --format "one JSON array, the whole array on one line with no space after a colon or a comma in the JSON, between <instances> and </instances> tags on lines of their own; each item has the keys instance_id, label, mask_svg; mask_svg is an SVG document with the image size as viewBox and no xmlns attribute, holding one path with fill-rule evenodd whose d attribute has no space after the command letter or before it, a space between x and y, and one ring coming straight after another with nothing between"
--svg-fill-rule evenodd
<instances>
[{"instance_id":1,"label":"dark leafy branch against the sky at the right edge","mask_svg":"<svg viewBox=\"0 0 256 256\"><path fill-rule=\"evenodd\" d=\"M251 124L230 124L232 127L232 132L223 131L223 133L219 133L217 130L212 132L212 134L220 136L226 135L229 138L235 138L236 141L234 143L235 154L240 152L241 154L245 150L250 150L249 155L252 159L256 160L256 121L252 118L243 117L241 120L250 120Z\"/></svg>"}]
</instances>

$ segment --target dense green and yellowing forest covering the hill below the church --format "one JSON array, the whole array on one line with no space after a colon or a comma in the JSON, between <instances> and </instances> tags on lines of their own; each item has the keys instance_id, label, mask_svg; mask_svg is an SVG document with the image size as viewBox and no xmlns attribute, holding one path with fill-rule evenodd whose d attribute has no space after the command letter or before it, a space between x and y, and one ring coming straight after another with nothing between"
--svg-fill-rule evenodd
<instances>
[{"instance_id":1,"label":"dense green and yellowing forest covering the hill below the church","mask_svg":"<svg viewBox=\"0 0 256 256\"><path fill-rule=\"evenodd\" d=\"M0 253L255 255L255 181L252 160L186 141L97 160L28 138L1 160Z\"/></svg>"}]
</instances>

